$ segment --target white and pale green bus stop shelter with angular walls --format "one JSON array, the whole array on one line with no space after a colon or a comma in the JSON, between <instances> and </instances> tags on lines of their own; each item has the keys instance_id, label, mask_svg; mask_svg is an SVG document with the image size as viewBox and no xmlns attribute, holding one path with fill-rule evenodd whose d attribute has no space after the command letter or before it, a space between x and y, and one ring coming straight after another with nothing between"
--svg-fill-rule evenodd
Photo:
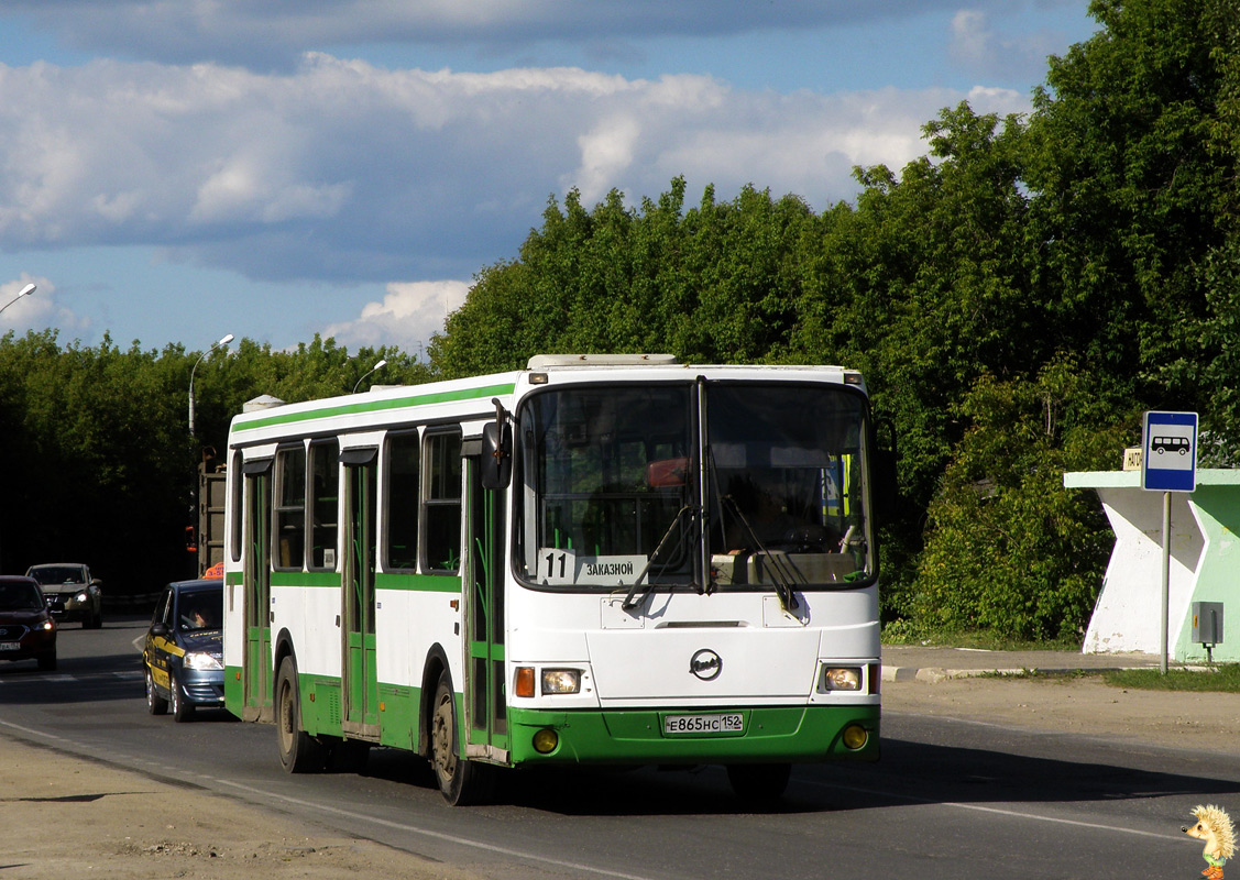
<instances>
[{"instance_id":1,"label":"white and pale green bus stop shelter with angular walls","mask_svg":"<svg viewBox=\"0 0 1240 880\"><path fill-rule=\"evenodd\" d=\"M1085 632L1084 653L1157 654L1162 604L1163 493L1141 488L1141 471L1064 475L1066 488L1091 488L1115 530L1115 548ZM1167 653L1177 663L1204 661L1194 641L1198 602L1220 602L1223 641L1213 659L1240 661L1240 470L1199 469L1193 492L1173 492ZM1231 625L1225 625L1226 615ZM1230 633L1230 635L1229 635Z\"/></svg>"}]
</instances>

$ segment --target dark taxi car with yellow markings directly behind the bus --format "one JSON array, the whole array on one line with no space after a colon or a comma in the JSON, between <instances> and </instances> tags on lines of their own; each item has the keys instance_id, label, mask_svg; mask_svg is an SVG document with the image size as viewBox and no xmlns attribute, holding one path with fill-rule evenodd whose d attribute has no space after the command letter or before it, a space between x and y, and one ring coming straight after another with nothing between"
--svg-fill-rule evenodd
<instances>
[{"instance_id":1,"label":"dark taxi car with yellow markings directly behind the bus","mask_svg":"<svg viewBox=\"0 0 1240 880\"><path fill-rule=\"evenodd\" d=\"M223 581L181 580L160 594L146 631L146 710L186 721L196 706L224 704Z\"/></svg>"}]
</instances>

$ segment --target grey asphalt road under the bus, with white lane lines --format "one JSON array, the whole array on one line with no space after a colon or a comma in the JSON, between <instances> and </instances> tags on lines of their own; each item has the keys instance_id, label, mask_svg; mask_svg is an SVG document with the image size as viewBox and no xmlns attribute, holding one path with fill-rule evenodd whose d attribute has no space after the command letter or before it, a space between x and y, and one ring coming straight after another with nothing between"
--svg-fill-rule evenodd
<instances>
[{"instance_id":1,"label":"grey asphalt road under the bus, with white lane lines","mask_svg":"<svg viewBox=\"0 0 1240 880\"><path fill-rule=\"evenodd\" d=\"M1240 750L1195 754L884 708L878 765L804 766L771 812L723 772L525 773L495 804L444 806L425 763L376 750L363 776L288 776L274 730L145 713L145 621L61 631L61 668L0 666L2 736L270 807L497 880L1195 876L1179 825L1240 801ZM930 687L930 685L910 685Z\"/></svg>"}]
</instances>

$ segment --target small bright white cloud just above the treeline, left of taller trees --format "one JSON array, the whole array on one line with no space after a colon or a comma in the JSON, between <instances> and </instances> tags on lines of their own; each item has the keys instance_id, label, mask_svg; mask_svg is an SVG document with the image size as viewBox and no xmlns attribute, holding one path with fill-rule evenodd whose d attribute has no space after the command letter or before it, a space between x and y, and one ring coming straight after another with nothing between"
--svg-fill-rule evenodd
<instances>
[{"instance_id":1,"label":"small bright white cloud just above the treeline, left of taller trees","mask_svg":"<svg viewBox=\"0 0 1240 880\"><path fill-rule=\"evenodd\" d=\"M465 281L408 281L387 285L382 302L367 302L352 321L329 325L322 336L350 347L397 346L420 352L432 335L441 332L448 315L465 302Z\"/></svg>"}]
</instances>

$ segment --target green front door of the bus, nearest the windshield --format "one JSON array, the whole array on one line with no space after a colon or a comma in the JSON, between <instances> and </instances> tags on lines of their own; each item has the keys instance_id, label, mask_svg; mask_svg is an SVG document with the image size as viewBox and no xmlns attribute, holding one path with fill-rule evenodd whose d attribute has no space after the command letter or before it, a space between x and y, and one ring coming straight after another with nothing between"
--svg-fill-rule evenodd
<instances>
[{"instance_id":1,"label":"green front door of the bus, nearest the windshield","mask_svg":"<svg viewBox=\"0 0 1240 880\"><path fill-rule=\"evenodd\" d=\"M465 460L465 473L469 486L465 755L503 762L508 759L507 692L503 680L503 493L482 488L477 459Z\"/></svg>"}]
</instances>

